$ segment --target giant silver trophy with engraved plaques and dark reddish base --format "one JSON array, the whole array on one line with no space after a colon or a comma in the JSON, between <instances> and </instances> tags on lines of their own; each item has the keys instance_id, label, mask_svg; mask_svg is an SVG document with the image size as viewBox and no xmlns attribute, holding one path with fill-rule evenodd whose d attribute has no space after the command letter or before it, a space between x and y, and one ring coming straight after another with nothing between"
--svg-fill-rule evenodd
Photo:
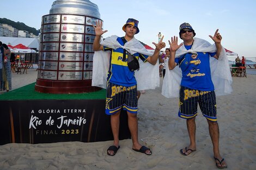
<instances>
[{"instance_id":1,"label":"giant silver trophy with engraved plaques and dark reddish base","mask_svg":"<svg viewBox=\"0 0 256 170\"><path fill-rule=\"evenodd\" d=\"M96 4L88 0L54 1L42 16L38 79L35 90L82 93L92 87L93 24L100 20Z\"/></svg>"}]
</instances>

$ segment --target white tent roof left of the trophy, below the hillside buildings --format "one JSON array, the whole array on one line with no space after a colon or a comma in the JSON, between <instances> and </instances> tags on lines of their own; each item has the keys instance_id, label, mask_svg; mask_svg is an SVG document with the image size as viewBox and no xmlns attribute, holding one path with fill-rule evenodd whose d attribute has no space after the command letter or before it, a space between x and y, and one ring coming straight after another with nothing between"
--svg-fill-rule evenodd
<instances>
[{"instance_id":1,"label":"white tent roof left of the trophy, below the hillside buildings","mask_svg":"<svg viewBox=\"0 0 256 170\"><path fill-rule=\"evenodd\" d=\"M22 38L22 37L5 37L0 36L0 41L5 43L6 45L16 46L19 43L22 43L23 45L29 47L29 48L36 48L39 50L39 40L36 38ZM24 52L20 52L24 53Z\"/></svg>"}]
</instances>

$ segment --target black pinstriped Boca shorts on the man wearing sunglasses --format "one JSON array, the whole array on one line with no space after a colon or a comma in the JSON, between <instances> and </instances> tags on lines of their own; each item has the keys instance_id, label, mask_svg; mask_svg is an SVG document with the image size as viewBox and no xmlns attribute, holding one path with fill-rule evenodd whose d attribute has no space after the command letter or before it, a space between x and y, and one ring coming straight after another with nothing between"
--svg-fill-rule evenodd
<instances>
[{"instance_id":1,"label":"black pinstriped Boca shorts on the man wearing sunglasses","mask_svg":"<svg viewBox=\"0 0 256 170\"><path fill-rule=\"evenodd\" d=\"M193 90L180 86L179 117L193 118L197 116L197 105L203 115L210 121L216 122L216 96L214 91Z\"/></svg>"}]
</instances>

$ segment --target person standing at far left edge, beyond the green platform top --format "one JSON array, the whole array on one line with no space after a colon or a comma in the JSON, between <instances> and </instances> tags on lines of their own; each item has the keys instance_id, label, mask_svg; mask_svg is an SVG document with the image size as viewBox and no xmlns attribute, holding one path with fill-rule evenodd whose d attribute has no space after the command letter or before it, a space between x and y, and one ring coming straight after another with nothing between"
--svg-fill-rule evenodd
<instances>
[{"instance_id":1,"label":"person standing at far left edge, beyond the green platform top","mask_svg":"<svg viewBox=\"0 0 256 170\"><path fill-rule=\"evenodd\" d=\"M7 92L11 90L11 62L10 62L10 55L11 51L8 46L3 43L2 45L5 48L5 57L4 57L4 64L3 64L3 90Z\"/></svg>"}]
</instances>

